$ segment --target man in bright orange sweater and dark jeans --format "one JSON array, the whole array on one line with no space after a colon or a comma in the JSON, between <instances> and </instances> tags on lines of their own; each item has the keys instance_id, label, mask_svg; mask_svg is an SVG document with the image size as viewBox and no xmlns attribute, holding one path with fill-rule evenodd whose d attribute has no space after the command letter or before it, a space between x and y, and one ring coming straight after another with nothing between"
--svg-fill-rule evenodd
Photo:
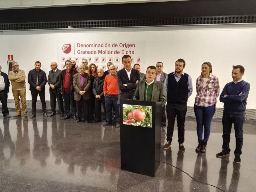
<instances>
[{"instance_id":1,"label":"man in bright orange sweater and dark jeans","mask_svg":"<svg viewBox=\"0 0 256 192\"><path fill-rule=\"evenodd\" d=\"M112 124L112 108L115 109L116 114L116 128L120 128L120 114L119 108L117 105L118 98L118 84L117 84L117 76L116 76L116 66L109 66L110 73L106 75L103 92L105 97L105 105L106 105L106 119L107 122L104 123L103 126L108 126Z\"/></svg>"}]
</instances>

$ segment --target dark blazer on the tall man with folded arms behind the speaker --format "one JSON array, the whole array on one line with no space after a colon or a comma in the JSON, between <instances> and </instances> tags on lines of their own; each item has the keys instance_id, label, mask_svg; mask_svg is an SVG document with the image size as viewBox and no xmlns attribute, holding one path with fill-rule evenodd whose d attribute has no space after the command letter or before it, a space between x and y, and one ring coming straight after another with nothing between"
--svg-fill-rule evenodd
<instances>
[{"instance_id":1,"label":"dark blazer on the tall man with folded arms behind the speaker","mask_svg":"<svg viewBox=\"0 0 256 192\"><path fill-rule=\"evenodd\" d=\"M117 83L119 88L119 94L125 93L125 92L134 92L134 89L136 89L137 84L136 81L140 80L140 72L134 68L131 68L131 75L130 79L125 71L125 68L122 68L117 72ZM127 86L124 86L123 84L127 84Z\"/></svg>"}]
</instances>

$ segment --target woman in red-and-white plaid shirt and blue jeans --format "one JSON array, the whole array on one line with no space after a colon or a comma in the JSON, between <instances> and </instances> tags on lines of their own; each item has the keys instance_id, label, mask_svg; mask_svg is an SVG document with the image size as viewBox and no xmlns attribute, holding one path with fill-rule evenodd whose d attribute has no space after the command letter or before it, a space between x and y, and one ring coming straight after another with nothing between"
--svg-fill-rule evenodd
<instances>
[{"instance_id":1,"label":"woman in red-and-white plaid shirt and blue jeans","mask_svg":"<svg viewBox=\"0 0 256 192\"><path fill-rule=\"evenodd\" d=\"M210 62L202 64L201 75L196 79L196 97L194 113L196 117L196 132L198 146L196 152L206 152L206 144L210 136L211 120L215 113L216 98L219 96L218 77L211 74ZM203 136L204 127L204 138Z\"/></svg>"}]
</instances>

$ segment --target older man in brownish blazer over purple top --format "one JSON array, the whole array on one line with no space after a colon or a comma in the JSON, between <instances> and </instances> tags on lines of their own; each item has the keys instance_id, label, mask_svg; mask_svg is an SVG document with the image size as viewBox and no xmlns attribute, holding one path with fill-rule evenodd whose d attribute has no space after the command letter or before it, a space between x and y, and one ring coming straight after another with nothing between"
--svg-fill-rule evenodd
<instances>
[{"instance_id":1,"label":"older man in brownish blazer over purple top","mask_svg":"<svg viewBox=\"0 0 256 192\"><path fill-rule=\"evenodd\" d=\"M74 74L73 77L73 87L74 87L74 100L77 108L77 120L76 123L81 122L82 119L82 108L85 123L89 121L89 99L90 99L90 84L91 80L89 78L89 74L85 72L85 66L81 64L79 66L80 73Z\"/></svg>"}]
</instances>

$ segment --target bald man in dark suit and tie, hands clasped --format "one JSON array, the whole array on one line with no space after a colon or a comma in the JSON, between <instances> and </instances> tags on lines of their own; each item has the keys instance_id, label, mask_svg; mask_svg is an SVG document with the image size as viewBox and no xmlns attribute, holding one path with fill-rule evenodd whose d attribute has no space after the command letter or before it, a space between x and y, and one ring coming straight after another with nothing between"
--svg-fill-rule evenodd
<instances>
[{"instance_id":1,"label":"bald man in dark suit and tie, hands clasped","mask_svg":"<svg viewBox=\"0 0 256 192\"><path fill-rule=\"evenodd\" d=\"M51 100L51 109L52 109L52 113L50 117L56 115L56 99L58 101L59 110L61 111L61 117L63 117L63 113L64 113L63 99L59 89L59 76L60 76L61 70L57 68L58 64L56 62L52 62L50 67L52 70L49 71L48 80L47 80L48 84L50 85L50 100Z\"/></svg>"}]
</instances>

